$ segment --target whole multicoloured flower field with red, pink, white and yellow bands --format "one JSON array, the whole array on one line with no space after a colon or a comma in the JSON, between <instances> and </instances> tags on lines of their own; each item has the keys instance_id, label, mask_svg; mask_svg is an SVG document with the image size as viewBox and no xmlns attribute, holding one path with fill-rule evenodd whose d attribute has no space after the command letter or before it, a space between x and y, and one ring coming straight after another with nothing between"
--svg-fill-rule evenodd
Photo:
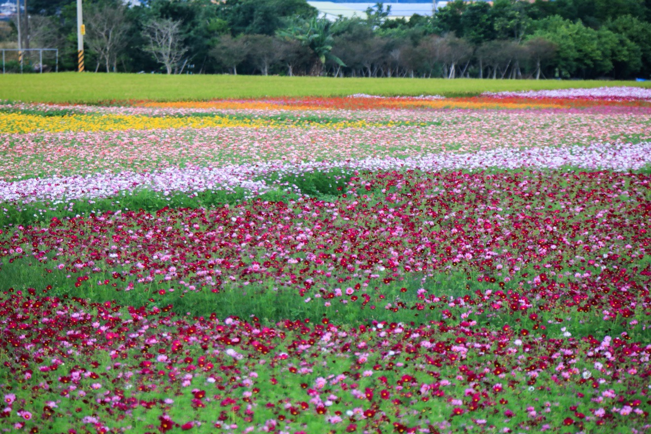
<instances>
[{"instance_id":1,"label":"whole multicoloured flower field with red, pink, white and yellow bands","mask_svg":"<svg viewBox=\"0 0 651 434\"><path fill-rule=\"evenodd\" d=\"M0 103L0 432L651 430L651 90Z\"/></svg>"}]
</instances>

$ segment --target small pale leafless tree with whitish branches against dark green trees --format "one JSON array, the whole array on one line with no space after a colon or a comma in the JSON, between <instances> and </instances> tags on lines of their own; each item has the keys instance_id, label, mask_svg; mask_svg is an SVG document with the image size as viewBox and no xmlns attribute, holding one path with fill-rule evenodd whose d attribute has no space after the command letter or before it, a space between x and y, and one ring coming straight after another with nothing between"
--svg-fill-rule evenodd
<instances>
[{"instance_id":1,"label":"small pale leafless tree with whitish branches against dark green trees","mask_svg":"<svg viewBox=\"0 0 651 434\"><path fill-rule=\"evenodd\" d=\"M146 23L143 30L147 41L145 51L165 66L167 74L178 68L187 51L181 41L180 27L181 21L158 18Z\"/></svg>"}]
</instances>

